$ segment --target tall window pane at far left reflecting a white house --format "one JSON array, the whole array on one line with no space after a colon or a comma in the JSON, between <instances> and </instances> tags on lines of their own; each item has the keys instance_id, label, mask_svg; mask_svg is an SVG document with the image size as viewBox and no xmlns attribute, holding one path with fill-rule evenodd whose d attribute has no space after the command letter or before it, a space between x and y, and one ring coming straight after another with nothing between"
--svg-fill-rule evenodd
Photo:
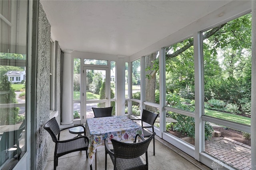
<instances>
[{"instance_id":1,"label":"tall window pane at far left reflecting a white house","mask_svg":"<svg viewBox=\"0 0 256 170\"><path fill-rule=\"evenodd\" d=\"M0 169L26 152L27 4L0 1Z\"/></svg>"}]
</instances>

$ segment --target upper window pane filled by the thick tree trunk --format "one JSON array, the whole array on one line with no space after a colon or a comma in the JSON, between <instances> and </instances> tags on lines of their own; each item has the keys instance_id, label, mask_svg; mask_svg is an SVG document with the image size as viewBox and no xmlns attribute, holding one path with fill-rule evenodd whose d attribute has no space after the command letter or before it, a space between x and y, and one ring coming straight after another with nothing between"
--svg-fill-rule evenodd
<instances>
[{"instance_id":1,"label":"upper window pane filled by the thick tree trunk","mask_svg":"<svg viewBox=\"0 0 256 170\"><path fill-rule=\"evenodd\" d=\"M159 51L145 57L145 101L159 104Z\"/></svg>"}]
</instances>

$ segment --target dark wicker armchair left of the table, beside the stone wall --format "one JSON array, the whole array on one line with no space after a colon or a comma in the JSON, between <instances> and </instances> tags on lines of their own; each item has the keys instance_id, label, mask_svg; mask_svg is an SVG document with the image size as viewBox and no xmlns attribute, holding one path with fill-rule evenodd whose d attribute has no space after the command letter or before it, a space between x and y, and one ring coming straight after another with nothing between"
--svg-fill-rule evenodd
<instances>
[{"instance_id":1,"label":"dark wicker armchair left of the table, beside the stone wall","mask_svg":"<svg viewBox=\"0 0 256 170\"><path fill-rule=\"evenodd\" d=\"M78 127L78 126L84 127L83 125L75 125L73 127ZM72 127L68 127L68 128L72 128ZM62 130L66 130L68 128L63 128ZM60 130L55 117L50 119L44 125L44 129L50 133L53 142L55 142L54 170L56 170L56 166L58 166L58 158L65 154L86 150L86 158L88 158L89 139L85 136L85 127L84 127L84 136L75 137L67 140L60 140L60 132L62 130ZM58 139L57 139L57 135L58 135Z\"/></svg>"}]
</instances>

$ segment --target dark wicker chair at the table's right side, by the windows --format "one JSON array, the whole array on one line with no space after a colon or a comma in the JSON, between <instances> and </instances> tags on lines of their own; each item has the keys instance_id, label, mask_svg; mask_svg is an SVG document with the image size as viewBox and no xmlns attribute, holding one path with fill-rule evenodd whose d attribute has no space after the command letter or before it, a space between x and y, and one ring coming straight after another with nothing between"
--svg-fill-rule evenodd
<instances>
[{"instance_id":1,"label":"dark wicker chair at the table's right side, by the windows","mask_svg":"<svg viewBox=\"0 0 256 170\"><path fill-rule=\"evenodd\" d=\"M146 128L152 128L152 132L154 133L154 123L157 117L158 117L158 114L143 109L141 119L132 119L132 120L141 121L143 136L144 138L148 138L149 136L151 136L152 133L149 130L146 130ZM148 123L150 126L143 126L143 122ZM153 150L155 155L155 137L153 138Z\"/></svg>"}]
</instances>

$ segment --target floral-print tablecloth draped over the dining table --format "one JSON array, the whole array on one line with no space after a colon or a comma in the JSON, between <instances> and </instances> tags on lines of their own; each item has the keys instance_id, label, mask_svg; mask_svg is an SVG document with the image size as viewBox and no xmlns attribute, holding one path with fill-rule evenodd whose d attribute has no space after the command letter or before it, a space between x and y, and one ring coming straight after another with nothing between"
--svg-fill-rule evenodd
<instances>
[{"instance_id":1,"label":"floral-print tablecloth draped over the dining table","mask_svg":"<svg viewBox=\"0 0 256 170\"><path fill-rule=\"evenodd\" d=\"M86 120L86 136L89 138L89 163L92 164L96 148L104 146L104 139L133 142L142 127L126 116L90 118Z\"/></svg>"}]
</instances>

